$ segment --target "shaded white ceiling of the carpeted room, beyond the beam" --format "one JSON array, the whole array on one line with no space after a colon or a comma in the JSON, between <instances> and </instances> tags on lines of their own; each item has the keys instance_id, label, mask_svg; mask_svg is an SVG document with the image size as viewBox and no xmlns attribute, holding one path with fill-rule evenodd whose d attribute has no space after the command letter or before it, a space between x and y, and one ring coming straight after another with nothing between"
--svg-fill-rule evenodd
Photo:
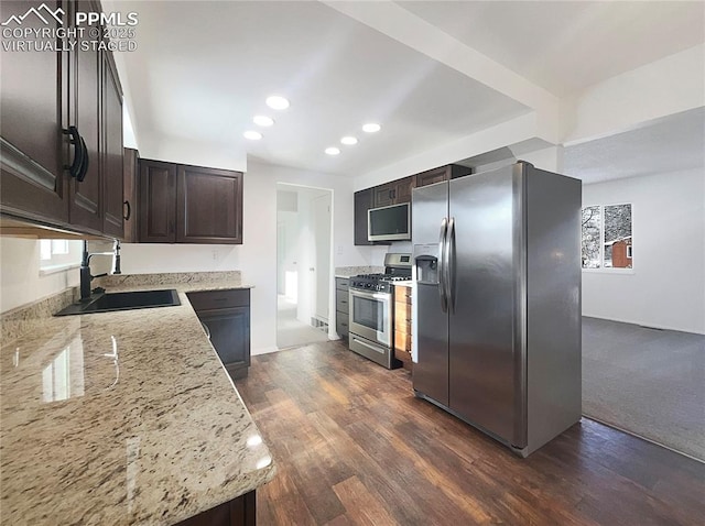
<instances>
[{"instance_id":1,"label":"shaded white ceiling of the carpeted room, beyond the beam","mask_svg":"<svg viewBox=\"0 0 705 526\"><path fill-rule=\"evenodd\" d=\"M584 184L693 168L705 169L705 108L564 152L564 173Z\"/></svg>"}]
</instances>

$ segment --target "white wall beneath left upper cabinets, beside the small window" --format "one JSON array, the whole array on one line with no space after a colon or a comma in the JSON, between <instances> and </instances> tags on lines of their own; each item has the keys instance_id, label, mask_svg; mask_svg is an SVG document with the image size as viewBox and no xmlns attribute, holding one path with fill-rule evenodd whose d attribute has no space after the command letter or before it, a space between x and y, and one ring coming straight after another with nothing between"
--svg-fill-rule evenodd
<instances>
[{"instance_id":1,"label":"white wall beneath left upper cabinets, beside the small window","mask_svg":"<svg viewBox=\"0 0 705 526\"><path fill-rule=\"evenodd\" d=\"M0 311L52 296L78 285L78 269L40 276L40 242L0 238Z\"/></svg>"}]
</instances>

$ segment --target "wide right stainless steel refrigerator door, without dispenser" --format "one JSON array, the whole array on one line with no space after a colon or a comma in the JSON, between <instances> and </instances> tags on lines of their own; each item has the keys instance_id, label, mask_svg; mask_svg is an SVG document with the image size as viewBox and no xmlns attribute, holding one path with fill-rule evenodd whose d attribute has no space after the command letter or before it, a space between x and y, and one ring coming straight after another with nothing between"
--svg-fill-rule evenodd
<instances>
[{"instance_id":1,"label":"wide right stainless steel refrigerator door, without dispenser","mask_svg":"<svg viewBox=\"0 0 705 526\"><path fill-rule=\"evenodd\" d=\"M449 407L525 442L523 165L451 182ZM523 262L522 262L523 261Z\"/></svg>"}]
</instances>

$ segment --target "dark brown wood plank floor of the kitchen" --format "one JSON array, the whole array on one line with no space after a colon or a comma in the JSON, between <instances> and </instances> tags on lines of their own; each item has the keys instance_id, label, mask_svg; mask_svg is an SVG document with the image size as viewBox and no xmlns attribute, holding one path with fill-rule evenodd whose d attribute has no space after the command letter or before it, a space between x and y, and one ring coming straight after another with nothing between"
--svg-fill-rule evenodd
<instances>
[{"instance_id":1,"label":"dark brown wood plank floor of the kitchen","mask_svg":"<svg viewBox=\"0 0 705 526\"><path fill-rule=\"evenodd\" d=\"M237 381L278 465L268 525L695 525L705 464L583 419L528 459L338 342L254 357Z\"/></svg>"}]
</instances>

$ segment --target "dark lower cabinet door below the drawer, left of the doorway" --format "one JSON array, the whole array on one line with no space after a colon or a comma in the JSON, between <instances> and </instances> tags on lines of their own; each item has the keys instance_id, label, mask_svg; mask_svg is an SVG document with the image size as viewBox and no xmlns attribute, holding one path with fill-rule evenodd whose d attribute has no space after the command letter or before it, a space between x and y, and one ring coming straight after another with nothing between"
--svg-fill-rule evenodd
<instances>
[{"instance_id":1,"label":"dark lower cabinet door below the drawer, left of the doorway","mask_svg":"<svg viewBox=\"0 0 705 526\"><path fill-rule=\"evenodd\" d=\"M250 365L250 308L202 310L198 319L210 332L210 343L234 377L247 375Z\"/></svg>"}]
</instances>

